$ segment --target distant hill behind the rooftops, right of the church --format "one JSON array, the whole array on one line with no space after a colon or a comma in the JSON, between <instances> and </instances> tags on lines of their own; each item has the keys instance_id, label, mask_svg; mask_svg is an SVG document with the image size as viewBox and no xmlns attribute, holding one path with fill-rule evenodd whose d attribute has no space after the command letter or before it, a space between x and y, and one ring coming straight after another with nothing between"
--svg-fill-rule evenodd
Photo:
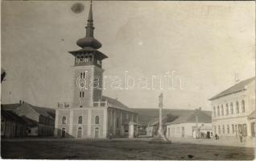
<instances>
[{"instance_id":1,"label":"distant hill behind the rooftops, right of the church","mask_svg":"<svg viewBox=\"0 0 256 161\"><path fill-rule=\"evenodd\" d=\"M159 117L159 109L133 109L133 111L138 114L138 123L144 126L147 126L152 119ZM192 114L194 111L195 109L163 109L163 117L167 114L180 117L184 114ZM212 111L202 110L202 112L212 115Z\"/></svg>"}]
</instances>

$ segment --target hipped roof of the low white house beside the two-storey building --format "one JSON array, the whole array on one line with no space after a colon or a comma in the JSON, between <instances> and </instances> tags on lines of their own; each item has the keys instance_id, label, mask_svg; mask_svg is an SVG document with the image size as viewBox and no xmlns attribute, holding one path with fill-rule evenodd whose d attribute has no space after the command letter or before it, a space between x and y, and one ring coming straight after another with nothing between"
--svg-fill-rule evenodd
<instances>
[{"instance_id":1,"label":"hipped roof of the low white house beside the two-storey building","mask_svg":"<svg viewBox=\"0 0 256 161\"><path fill-rule=\"evenodd\" d=\"M212 123L212 116L205 114L200 109L195 109L186 114L181 115L179 118L175 119L173 122L167 122L170 124L180 124L180 123L195 123L197 116L197 122L200 123Z\"/></svg>"}]
</instances>

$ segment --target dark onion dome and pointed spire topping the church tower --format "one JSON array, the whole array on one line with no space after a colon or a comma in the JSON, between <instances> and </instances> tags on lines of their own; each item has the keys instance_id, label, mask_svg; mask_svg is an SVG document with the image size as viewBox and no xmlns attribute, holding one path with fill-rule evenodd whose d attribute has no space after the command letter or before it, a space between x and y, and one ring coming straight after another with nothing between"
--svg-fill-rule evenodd
<instances>
[{"instance_id":1,"label":"dark onion dome and pointed spire topping the church tower","mask_svg":"<svg viewBox=\"0 0 256 161\"><path fill-rule=\"evenodd\" d=\"M92 4L92 1L90 1L89 16L88 16L88 20L87 20L87 26L85 28L86 28L85 38L78 39L76 41L76 44L82 48L85 48L85 47L93 47L95 49L100 48L102 46L101 43L97 39L94 39L94 37L93 37L93 30L95 28L93 27L93 4Z\"/></svg>"}]
</instances>

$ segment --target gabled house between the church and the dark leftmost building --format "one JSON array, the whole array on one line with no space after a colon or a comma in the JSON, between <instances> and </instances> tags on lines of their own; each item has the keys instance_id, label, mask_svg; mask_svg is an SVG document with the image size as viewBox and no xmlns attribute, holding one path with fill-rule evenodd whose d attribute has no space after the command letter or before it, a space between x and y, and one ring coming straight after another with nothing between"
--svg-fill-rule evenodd
<instances>
[{"instance_id":1,"label":"gabled house between the church and the dark leftmost building","mask_svg":"<svg viewBox=\"0 0 256 161\"><path fill-rule=\"evenodd\" d=\"M12 111L23 118L27 125L27 136L53 136L55 109L37 107L24 101L2 105L2 109Z\"/></svg>"}]
</instances>

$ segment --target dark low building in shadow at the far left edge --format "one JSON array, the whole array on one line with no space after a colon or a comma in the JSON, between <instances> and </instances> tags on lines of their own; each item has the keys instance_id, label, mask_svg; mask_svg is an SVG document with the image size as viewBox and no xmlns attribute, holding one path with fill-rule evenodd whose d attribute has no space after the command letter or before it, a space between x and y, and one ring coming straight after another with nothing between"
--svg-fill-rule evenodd
<instances>
[{"instance_id":1,"label":"dark low building in shadow at the far left edge","mask_svg":"<svg viewBox=\"0 0 256 161\"><path fill-rule=\"evenodd\" d=\"M26 136L26 122L12 111L1 109L1 137L14 138Z\"/></svg>"}]
</instances>

